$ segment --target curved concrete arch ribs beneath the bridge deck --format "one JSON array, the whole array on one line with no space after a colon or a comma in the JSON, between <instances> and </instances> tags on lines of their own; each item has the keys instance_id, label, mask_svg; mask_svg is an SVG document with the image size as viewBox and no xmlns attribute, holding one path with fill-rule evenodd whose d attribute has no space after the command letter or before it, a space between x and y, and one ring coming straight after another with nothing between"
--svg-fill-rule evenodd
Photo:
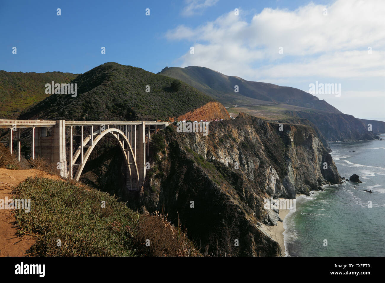
<instances>
[{"instance_id":1,"label":"curved concrete arch ribs beneath the bridge deck","mask_svg":"<svg viewBox=\"0 0 385 283\"><path fill-rule=\"evenodd\" d=\"M126 135L119 129L116 129L116 128L109 128L109 129L106 129L104 131L102 131L100 134L98 134L95 139L92 141L92 145L88 147L87 151L85 152L84 154L84 157L83 157L83 162L79 165L77 171L76 171L76 174L75 174L75 177L74 179L76 181L79 181L80 179L80 175L82 174L82 171L85 167L85 164L87 163L87 160L88 158L90 157L91 155L91 152L92 150L95 148L96 144L102 139L102 137L104 137L106 134L109 134L111 133L118 141L119 143L119 147L121 148L122 150L122 153L123 153L123 156L124 156L124 159L126 161L126 165L127 165L127 171L129 172L130 176L127 176L126 178L129 178L131 176L133 176L134 178L137 179L137 182L136 184L139 186L139 170L138 170L138 166L137 166L137 163L136 163L136 158L134 156L134 152L132 151L132 147L131 147L131 144L128 140L128 138L126 137ZM120 140L121 137L123 139L123 142ZM84 143L87 143L89 142L91 139L91 136L88 136L84 139L83 141L83 144ZM127 144L127 148L124 148L124 145ZM75 160L79 157L80 155L80 151L81 149L79 148L75 154L74 154L74 157L73 157L73 163L75 163ZM131 156L131 159L132 159L132 163L129 163L129 157ZM132 175L133 172L131 172L131 164L134 165L134 175Z\"/></svg>"}]
</instances>

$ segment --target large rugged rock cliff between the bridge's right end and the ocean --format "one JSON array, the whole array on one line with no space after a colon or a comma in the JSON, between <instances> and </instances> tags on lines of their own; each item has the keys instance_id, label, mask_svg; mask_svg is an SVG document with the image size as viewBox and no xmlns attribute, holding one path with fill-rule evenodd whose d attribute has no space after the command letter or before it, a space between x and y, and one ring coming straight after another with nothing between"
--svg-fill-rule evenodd
<instances>
[{"instance_id":1,"label":"large rugged rock cliff between the bridge's right end and the ocean","mask_svg":"<svg viewBox=\"0 0 385 283\"><path fill-rule=\"evenodd\" d=\"M151 169L135 205L150 212L164 207L169 219L178 212L192 239L214 255L280 255L278 243L258 223L280 220L263 208L263 199L295 198L341 181L308 126L284 125L279 131L278 124L241 113L210 123L208 136L178 133L175 125L158 135L165 147L152 148Z\"/></svg>"}]
</instances>

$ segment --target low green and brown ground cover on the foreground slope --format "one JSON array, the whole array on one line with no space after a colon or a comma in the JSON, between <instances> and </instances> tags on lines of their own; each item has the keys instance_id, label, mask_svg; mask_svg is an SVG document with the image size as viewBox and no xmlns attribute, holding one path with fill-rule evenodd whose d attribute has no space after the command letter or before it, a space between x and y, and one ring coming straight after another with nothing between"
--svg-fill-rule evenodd
<instances>
[{"instance_id":1,"label":"low green and brown ground cover on the foreground slope","mask_svg":"<svg viewBox=\"0 0 385 283\"><path fill-rule=\"evenodd\" d=\"M19 184L16 194L31 199L30 213L20 209L14 212L18 233L36 238L30 255L200 255L181 227L171 226L159 214L136 213L115 196L97 189L28 177Z\"/></svg>"}]
</instances>

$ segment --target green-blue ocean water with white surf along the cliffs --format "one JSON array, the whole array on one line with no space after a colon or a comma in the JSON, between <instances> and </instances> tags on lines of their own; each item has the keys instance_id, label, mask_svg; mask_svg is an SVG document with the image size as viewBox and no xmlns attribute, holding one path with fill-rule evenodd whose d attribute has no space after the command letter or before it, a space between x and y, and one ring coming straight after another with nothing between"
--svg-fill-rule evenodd
<instances>
[{"instance_id":1,"label":"green-blue ocean water with white surf along the cliffs","mask_svg":"<svg viewBox=\"0 0 385 283\"><path fill-rule=\"evenodd\" d=\"M363 183L299 196L284 221L286 256L385 256L385 134L380 137L329 143L341 177L357 174Z\"/></svg>"}]
</instances>

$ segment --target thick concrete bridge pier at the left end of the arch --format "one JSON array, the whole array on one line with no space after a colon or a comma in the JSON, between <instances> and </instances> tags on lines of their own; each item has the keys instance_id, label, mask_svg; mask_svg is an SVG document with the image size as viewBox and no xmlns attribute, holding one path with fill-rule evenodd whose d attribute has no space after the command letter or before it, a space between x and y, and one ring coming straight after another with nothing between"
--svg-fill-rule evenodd
<instances>
[{"instance_id":1,"label":"thick concrete bridge pier at the left end of the arch","mask_svg":"<svg viewBox=\"0 0 385 283\"><path fill-rule=\"evenodd\" d=\"M60 176L67 177L67 161L65 159L65 120L56 120L53 132L54 164L60 164Z\"/></svg>"}]
</instances>

